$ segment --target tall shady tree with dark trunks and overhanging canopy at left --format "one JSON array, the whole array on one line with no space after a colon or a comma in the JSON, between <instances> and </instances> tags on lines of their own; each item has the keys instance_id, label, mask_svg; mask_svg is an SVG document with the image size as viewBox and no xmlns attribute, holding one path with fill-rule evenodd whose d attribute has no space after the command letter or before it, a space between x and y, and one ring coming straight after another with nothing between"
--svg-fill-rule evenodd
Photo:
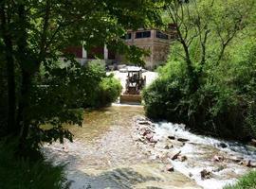
<instances>
[{"instance_id":1,"label":"tall shady tree with dark trunks and overhanging canopy at left","mask_svg":"<svg viewBox=\"0 0 256 189\"><path fill-rule=\"evenodd\" d=\"M9 133L20 135L21 148L26 145L31 122L36 121L30 113L31 94L41 65L60 57L74 60L63 53L64 48L72 44L90 48L114 43L120 53L141 61L141 51L124 45L120 36L127 28L161 24L163 6L161 0L1 1L0 45L8 67L8 127ZM21 77L16 83L15 70Z\"/></svg>"}]
</instances>

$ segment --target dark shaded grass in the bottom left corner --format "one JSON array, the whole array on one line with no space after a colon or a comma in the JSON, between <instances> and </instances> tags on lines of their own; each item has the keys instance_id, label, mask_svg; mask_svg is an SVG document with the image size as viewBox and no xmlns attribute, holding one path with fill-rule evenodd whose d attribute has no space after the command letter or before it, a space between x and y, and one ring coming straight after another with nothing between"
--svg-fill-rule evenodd
<instances>
[{"instance_id":1,"label":"dark shaded grass in the bottom left corner","mask_svg":"<svg viewBox=\"0 0 256 189\"><path fill-rule=\"evenodd\" d=\"M1 189L67 188L64 166L53 166L44 160L30 161L15 157L15 144L0 141Z\"/></svg>"}]
</instances>

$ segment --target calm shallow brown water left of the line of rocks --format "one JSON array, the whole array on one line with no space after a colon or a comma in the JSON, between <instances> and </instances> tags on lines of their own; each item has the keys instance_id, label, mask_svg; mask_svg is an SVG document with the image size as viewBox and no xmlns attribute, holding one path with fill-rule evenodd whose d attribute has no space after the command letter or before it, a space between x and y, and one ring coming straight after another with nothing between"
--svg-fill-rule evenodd
<instances>
[{"instance_id":1,"label":"calm shallow brown water left of the line of rocks","mask_svg":"<svg viewBox=\"0 0 256 189\"><path fill-rule=\"evenodd\" d=\"M46 158L66 164L72 189L200 188L179 172L163 172L163 164L141 151L131 133L141 106L112 106L84 112L82 128L69 126L74 142L44 146Z\"/></svg>"}]
</instances>

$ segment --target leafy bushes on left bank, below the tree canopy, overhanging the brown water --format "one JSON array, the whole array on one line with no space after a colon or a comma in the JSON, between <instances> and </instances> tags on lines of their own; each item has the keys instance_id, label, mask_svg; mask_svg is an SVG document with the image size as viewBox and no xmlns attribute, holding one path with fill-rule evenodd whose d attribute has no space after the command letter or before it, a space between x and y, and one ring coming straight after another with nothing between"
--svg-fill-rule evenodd
<instances>
[{"instance_id":1,"label":"leafy bushes on left bank, below the tree canopy, overhanging the brown water","mask_svg":"<svg viewBox=\"0 0 256 189\"><path fill-rule=\"evenodd\" d=\"M72 141L72 133L63 125L82 126L83 108L111 104L121 91L119 80L106 76L100 60L86 66L50 61L41 70L33 82L29 107L29 116L34 121L28 129L27 145L34 149L39 149L42 142L63 143L64 138ZM51 127L42 127L45 125Z\"/></svg>"}]
</instances>

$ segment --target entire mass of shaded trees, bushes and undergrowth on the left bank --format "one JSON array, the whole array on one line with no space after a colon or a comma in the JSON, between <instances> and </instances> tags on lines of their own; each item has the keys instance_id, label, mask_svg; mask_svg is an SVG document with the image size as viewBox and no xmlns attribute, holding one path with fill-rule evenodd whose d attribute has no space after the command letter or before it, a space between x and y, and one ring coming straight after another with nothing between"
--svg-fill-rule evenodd
<instances>
[{"instance_id":1,"label":"entire mass of shaded trees, bushes and undergrowth on the left bank","mask_svg":"<svg viewBox=\"0 0 256 189\"><path fill-rule=\"evenodd\" d=\"M51 167L40 155L34 162L33 154L45 142L72 141L63 125L82 125L83 108L105 106L121 90L99 65L81 66L64 49L107 45L127 60L143 63L146 52L125 45L121 37L128 28L161 25L163 2L0 2L0 140L9 138L0 148L0 188L62 187L62 167ZM50 129L41 128L46 124ZM15 141L12 148L9 141Z\"/></svg>"}]
</instances>

